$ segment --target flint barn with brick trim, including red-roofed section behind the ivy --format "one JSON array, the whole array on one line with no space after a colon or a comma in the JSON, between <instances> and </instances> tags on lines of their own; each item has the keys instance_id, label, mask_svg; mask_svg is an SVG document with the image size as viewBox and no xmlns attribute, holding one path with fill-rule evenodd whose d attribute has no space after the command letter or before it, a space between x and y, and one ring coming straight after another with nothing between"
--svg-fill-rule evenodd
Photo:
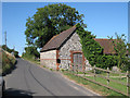
<instances>
[{"instance_id":1,"label":"flint barn with brick trim, including red-roofed section behind the ivy","mask_svg":"<svg viewBox=\"0 0 130 98\"><path fill-rule=\"evenodd\" d=\"M95 39L95 41L104 48L104 53L113 51L108 39ZM78 65L78 70L83 70L84 65L90 65L83 56L76 26L52 37L43 46L40 50L40 64L55 70L68 69L72 64L75 68Z\"/></svg>"}]
</instances>

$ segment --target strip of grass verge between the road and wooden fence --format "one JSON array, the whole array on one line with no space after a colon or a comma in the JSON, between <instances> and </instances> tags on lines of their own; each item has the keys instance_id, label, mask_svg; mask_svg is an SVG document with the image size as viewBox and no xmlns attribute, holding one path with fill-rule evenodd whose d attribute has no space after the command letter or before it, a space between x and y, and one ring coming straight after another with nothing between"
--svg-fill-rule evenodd
<instances>
[{"instance_id":1,"label":"strip of grass verge between the road and wooden fence","mask_svg":"<svg viewBox=\"0 0 130 98\"><path fill-rule=\"evenodd\" d=\"M112 89L108 89L106 87L103 87L101 85L98 85L95 83L92 83L92 82L89 82L80 76L76 76L74 75L73 73L67 73L66 71L63 72L64 75L66 75L68 78L75 81L76 83L78 84L81 84L83 85L84 87L100 94L101 96L106 96L106 97L109 97L109 96L120 96L122 98L126 98L127 96L122 95L122 94L119 94L117 91L114 91ZM93 79L92 77L90 77L91 79ZM102 82L102 83L106 83L104 79L101 79L101 78L96 78L98 81ZM112 86L114 86L115 84L109 84ZM118 86L119 87L119 86ZM123 88L122 88L123 89Z\"/></svg>"}]
</instances>

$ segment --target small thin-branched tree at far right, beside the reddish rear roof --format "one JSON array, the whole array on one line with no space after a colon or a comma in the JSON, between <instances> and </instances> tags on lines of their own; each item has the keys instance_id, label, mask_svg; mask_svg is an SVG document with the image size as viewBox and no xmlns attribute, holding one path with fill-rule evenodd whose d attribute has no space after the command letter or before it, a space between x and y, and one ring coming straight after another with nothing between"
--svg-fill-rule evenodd
<instances>
[{"instance_id":1,"label":"small thin-branched tree at far right, beside the reddish rear roof","mask_svg":"<svg viewBox=\"0 0 130 98\"><path fill-rule=\"evenodd\" d=\"M122 69L122 68L126 68L128 65L128 57L127 57L127 52L128 52L128 44L126 42L126 36L122 34L121 36L117 35L117 33L115 34L116 35L116 39L113 39L113 36L112 37L108 37L112 42L113 42L113 46L114 46L114 50L116 51L117 53L117 66Z\"/></svg>"}]
</instances>

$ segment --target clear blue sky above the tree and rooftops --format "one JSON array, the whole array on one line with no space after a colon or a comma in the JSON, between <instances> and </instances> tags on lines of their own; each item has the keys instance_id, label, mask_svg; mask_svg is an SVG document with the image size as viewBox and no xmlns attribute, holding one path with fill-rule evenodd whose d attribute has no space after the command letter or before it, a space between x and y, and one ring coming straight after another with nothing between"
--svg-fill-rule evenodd
<instances>
[{"instance_id":1,"label":"clear blue sky above the tree and rooftops","mask_svg":"<svg viewBox=\"0 0 130 98\"><path fill-rule=\"evenodd\" d=\"M8 46L22 54L26 46L26 19L32 16L38 8L53 2L2 2L2 38L8 33ZM63 2L62 2L63 3ZM126 34L128 36L128 3L127 2L65 2L84 14L84 24L88 30L96 38L107 38ZM4 44L4 40L2 42Z\"/></svg>"}]
</instances>

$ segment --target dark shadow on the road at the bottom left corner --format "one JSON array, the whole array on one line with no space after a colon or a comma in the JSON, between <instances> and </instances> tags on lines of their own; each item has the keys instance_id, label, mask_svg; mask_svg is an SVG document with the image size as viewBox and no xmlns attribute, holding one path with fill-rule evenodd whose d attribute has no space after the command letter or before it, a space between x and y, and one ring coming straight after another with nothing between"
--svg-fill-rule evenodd
<instances>
[{"instance_id":1,"label":"dark shadow on the road at the bottom left corner","mask_svg":"<svg viewBox=\"0 0 130 98\"><path fill-rule=\"evenodd\" d=\"M27 90L22 90L22 89L14 89L14 88L9 88L5 90L3 98L9 98L9 97L27 97L27 98L32 98L32 94Z\"/></svg>"}]
</instances>

